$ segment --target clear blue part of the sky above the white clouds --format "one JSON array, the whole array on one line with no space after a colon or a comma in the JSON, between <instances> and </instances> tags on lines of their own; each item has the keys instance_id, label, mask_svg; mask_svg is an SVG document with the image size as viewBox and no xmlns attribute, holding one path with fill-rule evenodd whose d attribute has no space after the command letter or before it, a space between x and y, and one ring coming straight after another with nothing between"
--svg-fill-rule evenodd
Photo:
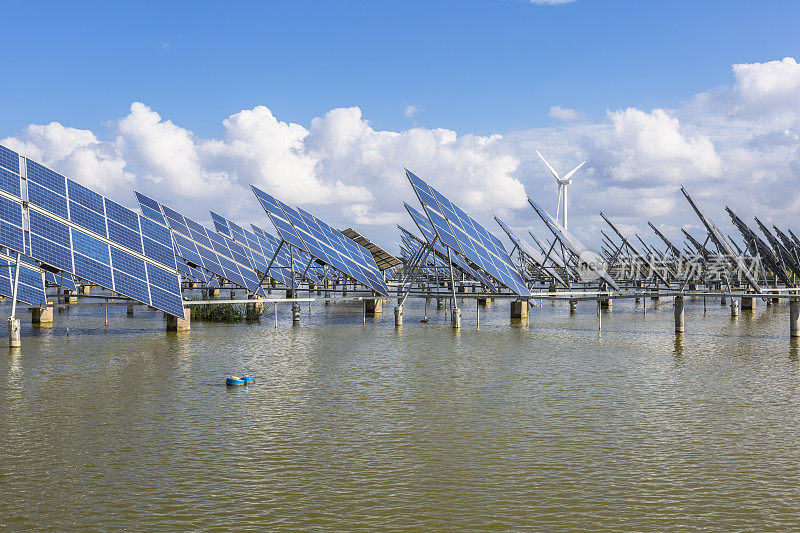
<instances>
[{"instance_id":1,"label":"clear blue part of the sky above the white clouds","mask_svg":"<svg viewBox=\"0 0 800 533\"><path fill-rule=\"evenodd\" d=\"M304 125L357 105L376 129L502 133L552 124L553 105L596 120L674 107L727 82L731 64L799 44L791 1L224 4L6 4L19 82L2 89L2 133L101 131L133 101L202 136L256 105Z\"/></svg>"}]
</instances>

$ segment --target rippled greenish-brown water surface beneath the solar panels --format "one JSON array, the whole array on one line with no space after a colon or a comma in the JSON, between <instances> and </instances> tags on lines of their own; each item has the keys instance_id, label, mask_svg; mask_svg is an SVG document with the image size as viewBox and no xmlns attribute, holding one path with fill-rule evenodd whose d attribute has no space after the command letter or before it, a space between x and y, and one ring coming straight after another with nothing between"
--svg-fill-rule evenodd
<instances>
[{"instance_id":1,"label":"rippled greenish-brown water surface beneath the solar panels","mask_svg":"<svg viewBox=\"0 0 800 533\"><path fill-rule=\"evenodd\" d=\"M0 357L0 527L800 527L788 306L407 302L260 324L73 311ZM5 342L5 341L3 341ZM231 373L257 383L226 388Z\"/></svg>"}]
</instances>

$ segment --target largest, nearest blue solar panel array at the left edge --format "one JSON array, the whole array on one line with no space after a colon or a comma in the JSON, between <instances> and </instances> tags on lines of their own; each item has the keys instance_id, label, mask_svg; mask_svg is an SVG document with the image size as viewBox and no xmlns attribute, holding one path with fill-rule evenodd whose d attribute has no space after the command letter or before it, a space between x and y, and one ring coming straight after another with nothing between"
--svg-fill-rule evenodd
<instances>
[{"instance_id":1,"label":"largest, nearest blue solar panel array at the left edge","mask_svg":"<svg viewBox=\"0 0 800 533\"><path fill-rule=\"evenodd\" d=\"M183 316L169 232L5 147L0 167L0 246Z\"/></svg>"}]
</instances>

